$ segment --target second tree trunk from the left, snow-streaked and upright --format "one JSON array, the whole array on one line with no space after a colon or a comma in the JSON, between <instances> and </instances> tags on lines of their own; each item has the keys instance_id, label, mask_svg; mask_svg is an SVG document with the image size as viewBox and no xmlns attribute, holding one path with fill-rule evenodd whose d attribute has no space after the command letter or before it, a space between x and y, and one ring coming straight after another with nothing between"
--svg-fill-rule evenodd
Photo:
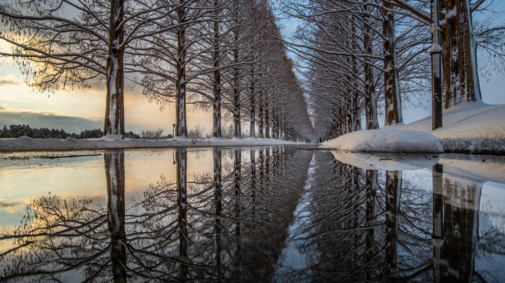
<instances>
[{"instance_id":1,"label":"second tree trunk from the left, snow-streaked and upright","mask_svg":"<svg viewBox=\"0 0 505 283\"><path fill-rule=\"evenodd\" d=\"M177 72L177 82L175 86L176 91L176 121L175 128L176 136L187 136L187 124L186 124L186 38L185 31L186 25L184 25L186 10L183 6L184 0L179 1L180 7L177 8L177 17L179 21L179 27L177 27L177 62L176 62L176 72Z\"/></svg>"}]
</instances>

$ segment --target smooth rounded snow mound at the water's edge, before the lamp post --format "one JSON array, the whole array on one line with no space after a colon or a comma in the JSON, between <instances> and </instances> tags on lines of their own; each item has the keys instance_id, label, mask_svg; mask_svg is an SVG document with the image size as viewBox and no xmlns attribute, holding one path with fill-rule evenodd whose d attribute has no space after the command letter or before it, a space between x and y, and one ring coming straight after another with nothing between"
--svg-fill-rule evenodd
<instances>
[{"instance_id":1,"label":"smooth rounded snow mound at the water's edge, before the lamp post","mask_svg":"<svg viewBox=\"0 0 505 283\"><path fill-rule=\"evenodd\" d=\"M322 147L352 152L443 152L431 134L389 128L352 132L323 143Z\"/></svg>"}]
</instances>

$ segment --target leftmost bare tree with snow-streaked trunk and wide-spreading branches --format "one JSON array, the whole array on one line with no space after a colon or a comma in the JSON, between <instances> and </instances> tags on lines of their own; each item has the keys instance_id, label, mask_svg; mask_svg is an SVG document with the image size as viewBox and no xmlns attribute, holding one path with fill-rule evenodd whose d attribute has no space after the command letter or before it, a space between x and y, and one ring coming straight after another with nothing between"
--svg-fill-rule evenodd
<instances>
[{"instance_id":1,"label":"leftmost bare tree with snow-streaked trunk and wide-spreading branches","mask_svg":"<svg viewBox=\"0 0 505 283\"><path fill-rule=\"evenodd\" d=\"M0 39L14 48L0 55L17 59L28 85L42 91L105 84L104 136L124 135L125 50L146 36L141 31L163 32L162 8L156 1L5 2Z\"/></svg>"}]
</instances>

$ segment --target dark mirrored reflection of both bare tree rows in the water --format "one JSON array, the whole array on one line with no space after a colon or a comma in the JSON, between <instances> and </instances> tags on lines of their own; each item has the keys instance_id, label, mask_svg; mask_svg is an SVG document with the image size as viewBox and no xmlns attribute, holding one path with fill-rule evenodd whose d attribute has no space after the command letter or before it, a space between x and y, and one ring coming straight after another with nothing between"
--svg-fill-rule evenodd
<instances>
[{"instance_id":1,"label":"dark mirrored reflection of both bare tree rows in the water","mask_svg":"<svg viewBox=\"0 0 505 283\"><path fill-rule=\"evenodd\" d=\"M500 279L475 267L505 251L502 230L479 237L482 184L441 165L427 190L322 151L214 148L213 173L189 175L187 150L174 151L176 175L143 195L125 196L124 152L108 151L107 200L33 198L1 238L13 248L0 281Z\"/></svg>"}]
</instances>

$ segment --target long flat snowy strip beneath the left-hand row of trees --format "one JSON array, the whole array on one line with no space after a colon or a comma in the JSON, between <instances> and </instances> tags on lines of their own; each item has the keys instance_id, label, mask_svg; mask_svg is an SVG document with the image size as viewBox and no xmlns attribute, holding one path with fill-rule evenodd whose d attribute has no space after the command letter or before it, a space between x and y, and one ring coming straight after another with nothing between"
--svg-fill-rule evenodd
<instances>
[{"instance_id":1,"label":"long flat snowy strip beneath the left-hand row of trees","mask_svg":"<svg viewBox=\"0 0 505 283\"><path fill-rule=\"evenodd\" d=\"M188 139L175 137L167 140L127 139L105 137L100 139L0 139L0 151L21 150L68 150L68 149L107 149L107 148L147 148L147 147L184 147L184 146L257 146L300 144L275 139Z\"/></svg>"}]
</instances>

